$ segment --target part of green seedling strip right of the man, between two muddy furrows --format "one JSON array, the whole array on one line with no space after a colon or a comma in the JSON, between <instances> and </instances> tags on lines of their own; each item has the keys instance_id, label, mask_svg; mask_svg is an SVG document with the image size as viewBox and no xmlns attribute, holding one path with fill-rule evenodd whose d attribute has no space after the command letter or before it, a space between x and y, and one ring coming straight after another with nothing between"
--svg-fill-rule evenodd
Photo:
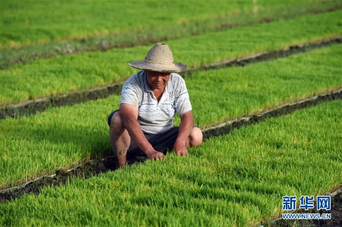
<instances>
[{"instance_id":1,"label":"part of green seedling strip right of the man, between two muddy furrows","mask_svg":"<svg viewBox=\"0 0 342 227\"><path fill-rule=\"evenodd\" d=\"M196 124L210 127L342 88L341 50L338 44L243 69L196 72L186 78Z\"/></svg>"}]
</instances>

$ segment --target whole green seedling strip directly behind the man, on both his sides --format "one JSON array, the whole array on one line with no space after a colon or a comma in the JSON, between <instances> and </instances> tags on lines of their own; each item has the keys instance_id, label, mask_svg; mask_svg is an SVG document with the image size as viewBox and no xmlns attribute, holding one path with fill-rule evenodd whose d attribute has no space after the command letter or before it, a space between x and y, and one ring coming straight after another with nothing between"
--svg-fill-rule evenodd
<instances>
[{"instance_id":1,"label":"whole green seedling strip directly behind the man, on both his sides","mask_svg":"<svg viewBox=\"0 0 342 227\"><path fill-rule=\"evenodd\" d=\"M195 124L238 116L342 87L341 44L243 68L186 77ZM107 115L120 96L0 120L0 188L68 169L110 151ZM179 118L175 119L175 124Z\"/></svg>"}]
</instances>

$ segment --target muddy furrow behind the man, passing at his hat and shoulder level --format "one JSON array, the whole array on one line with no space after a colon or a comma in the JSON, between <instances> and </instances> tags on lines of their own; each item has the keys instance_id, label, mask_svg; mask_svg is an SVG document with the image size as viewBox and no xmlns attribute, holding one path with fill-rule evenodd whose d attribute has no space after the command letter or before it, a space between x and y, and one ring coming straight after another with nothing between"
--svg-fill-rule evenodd
<instances>
[{"instance_id":1,"label":"muddy furrow behind the man, passing at his hat and shoulder level","mask_svg":"<svg viewBox=\"0 0 342 227\"><path fill-rule=\"evenodd\" d=\"M191 76L194 72L199 70L208 70L233 66L245 66L256 62L269 61L280 57L288 57L290 55L308 52L313 49L322 48L325 46L341 42L342 38L341 36L338 36L334 38L319 40L310 44L290 46L288 48L278 51L263 52L253 56L229 60L219 64L210 64L196 69L189 69L182 76ZM120 95L122 85L122 83L112 84L105 87L74 92L67 95L52 96L47 98L30 100L15 105L0 107L0 119L6 117L28 116L36 114L37 112L43 112L47 108L51 107L70 106L77 103L86 102L88 100L106 98L109 95Z\"/></svg>"}]
</instances>

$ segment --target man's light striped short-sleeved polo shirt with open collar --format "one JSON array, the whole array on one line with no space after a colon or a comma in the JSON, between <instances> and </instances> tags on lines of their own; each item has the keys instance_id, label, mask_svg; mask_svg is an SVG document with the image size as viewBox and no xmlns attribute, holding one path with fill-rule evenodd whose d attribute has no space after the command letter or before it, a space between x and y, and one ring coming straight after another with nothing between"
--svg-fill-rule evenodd
<instances>
[{"instance_id":1,"label":"man's light striped short-sleeved polo shirt with open collar","mask_svg":"<svg viewBox=\"0 0 342 227\"><path fill-rule=\"evenodd\" d=\"M121 103L138 108L138 122L144 132L158 134L173 127L173 116L192 110L184 79L171 73L159 102L152 93L145 71L130 76L121 91Z\"/></svg>"}]
</instances>

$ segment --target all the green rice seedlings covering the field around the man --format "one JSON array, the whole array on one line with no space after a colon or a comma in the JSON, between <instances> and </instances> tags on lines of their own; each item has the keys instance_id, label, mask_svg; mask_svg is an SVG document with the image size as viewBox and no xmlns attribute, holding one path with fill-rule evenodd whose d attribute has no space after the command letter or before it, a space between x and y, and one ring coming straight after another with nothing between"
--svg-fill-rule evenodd
<instances>
[{"instance_id":1,"label":"all the green rice seedlings covering the field around the man","mask_svg":"<svg viewBox=\"0 0 342 227\"><path fill-rule=\"evenodd\" d=\"M97 12L92 1L46 2L58 8L56 17L44 13L41 1L28 3L1 1L0 108L122 83L137 72L127 63L144 59L156 39L191 68L182 76L195 124L203 130L342 88L342 44L336 43L342 35L341 1L201 1L192 14L186 13L192 1L137 1L131 11L132 2L107 1L97 9L103 17L92 22L85 16ZM139 20L136 12L152 12L151 5L160 9L155 19ZM64 9L69 6L73 14ZM25 7L37 11L25 15ZM169 19L160 14L163 7L179 10ZM277 13L280 8L291 13ZM110 9L120 11L113 23ZM201 25L192 30L192 23ZM4 32L6 26L11 29ZM150 38L133 38L145 32ZM310 49L328 38L337 41ZM101 51L94 43L104 39ZM51 52L65 42L81 43L80 48ZM205 69L295 45L308 48L244 67ZM40 55L24 57L35 49ZM112 155L107 115L119 100L113 94L0 119L1 226L272 226L283 212L282 196L342 188L342 102L334 100L209 137L187 157L169 153L124 170L114 170L112 163L111 171L92 177L85 168L87 179L78 174L61 185L42 183L38 195L16 192L36 177ZM5 191L18 198L2 199ZM342 225L336 216L325 224L334 223Z\"/></svg>"}]
</instances>

